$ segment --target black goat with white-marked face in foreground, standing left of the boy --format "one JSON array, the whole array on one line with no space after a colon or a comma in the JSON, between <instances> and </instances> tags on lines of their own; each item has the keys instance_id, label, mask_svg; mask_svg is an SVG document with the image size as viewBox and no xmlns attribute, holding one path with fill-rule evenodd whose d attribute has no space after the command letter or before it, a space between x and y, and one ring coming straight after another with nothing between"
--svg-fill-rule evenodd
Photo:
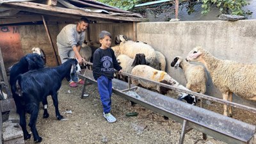
<instances>
[{"instance_id":1,"label":"black goat with white-marked face in foreground, standing left of the boy","mask_svg":"<svg viewBox=\"0 0 256 144\"><path fill-rule=\"evenodd\" d=\"M36 130L36 119L39 111L39 103L42 101L43 104L47 104L47 95L52 96L52 101L58 120L63 118L58 109L57 92L60 89L61 81L64 79L64 77L70 77L72 81L78 81L76 65L76 59L69 59L58 67L31 70L17 77L17 81L15 83L15 92L17 95L19 95L20 101L16 103L20 106L20 126L24 132L25 139L30 138L30 134L26 130L27 112L31 114L29 127L31 127L34 141L42 141L42 138L38 135ZM44 117L45 116L49 116L47 109L44 109Z\"/></svg>"}]
</instances>

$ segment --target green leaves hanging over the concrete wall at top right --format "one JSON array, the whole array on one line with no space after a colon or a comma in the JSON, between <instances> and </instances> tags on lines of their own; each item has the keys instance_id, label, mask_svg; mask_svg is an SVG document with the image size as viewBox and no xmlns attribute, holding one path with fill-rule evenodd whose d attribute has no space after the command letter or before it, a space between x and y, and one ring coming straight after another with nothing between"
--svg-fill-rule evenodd
<instances>
[{"instance_id":1,"label":"green leaves hanging over the concrete wall at top right","mask_svg":"<svg viewBox=\"0 0 256 144\"><path fill-rule=\"evenodd\" d=\"M222 14L232 15L250 15L252 12L245 12L242 10L243 6L249 4L246 0L188 0L188 13L194 12L193 6L195 4L202 4L202 14L207 15L210 12L211 6L216 6Z\"/></svg>"}]
</instances>

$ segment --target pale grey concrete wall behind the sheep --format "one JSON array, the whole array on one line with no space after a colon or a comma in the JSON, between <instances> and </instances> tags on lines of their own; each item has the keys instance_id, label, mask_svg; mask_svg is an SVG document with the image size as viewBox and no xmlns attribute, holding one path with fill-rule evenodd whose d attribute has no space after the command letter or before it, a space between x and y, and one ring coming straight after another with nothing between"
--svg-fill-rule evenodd
<instances>
[{"instance_id":1,"label":"pale grey concrete wall behind the sheep","mask_svg":"<svg viewBox=\"0 0 256 144\"><path fill-rule=\"evenodd\" d=\"M181 84L186 84L182 70L170 67L175 56L185 58L193 47L200 45L217 58L242 63L256 63L256 20L141 22L137 24L137 39L152 45L166 57L166 72ZM198 63L199 64L199 63ZM207 95L221 97L220 91L207 83ZM256 108L256 102L234 97L234 102Z\"/></svg>"}]
</instances>

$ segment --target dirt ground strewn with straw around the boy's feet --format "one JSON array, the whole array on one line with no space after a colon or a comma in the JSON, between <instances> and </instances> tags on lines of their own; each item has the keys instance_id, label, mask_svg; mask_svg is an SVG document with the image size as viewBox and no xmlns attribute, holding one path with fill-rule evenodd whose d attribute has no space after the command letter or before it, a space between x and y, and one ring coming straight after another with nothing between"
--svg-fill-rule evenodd
<instances>
[{"instance_id":1,"label":"dirt ground strewn with straw around the boy's feet","mask_svg":"<svg viewBox=\"0 0 256 144\"><path fill-rule=\"evenodd\" d=\"M102 116L97 86L91 84L86 87L87 92L90 93L86 99L81 99L82 88L81 85L77 88L69 88L67 81L63 80L58 95L60 113L65 117L61 121L56 119L51 97L48 97L50 116L46 119L42 118L43 110L40 109L36 123L38 133L43 138L41 143L179 143L181 124L171 119L164 120L162 115L138 104L132 107L129 100L115 93L112 96L112 113L116 116L117 122L109 124ZM220 104L212 103L209 108L218 113L223 111L223 106ZM234 118L256 125L255 115L234 110ZM72 113L68 113L70 111ZM126 113L134 111L138 116L125 116ZM34 143L33 136L25 143ZM202 140L202 133L192 130L186 134L184 143L223 142L210 136L207 140Z\"/></svg>"}]
</instances>

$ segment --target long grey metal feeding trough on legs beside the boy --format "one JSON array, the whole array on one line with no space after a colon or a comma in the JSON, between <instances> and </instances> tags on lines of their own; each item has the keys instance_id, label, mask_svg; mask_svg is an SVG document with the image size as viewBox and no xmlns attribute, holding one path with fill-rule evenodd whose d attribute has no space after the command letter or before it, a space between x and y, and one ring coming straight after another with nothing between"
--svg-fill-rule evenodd
<instances>
[{"instance_id":1,"label":"long grey metal feeding trough on legs beside the boy","mask_svg":"<svg viewBox=\"0 0 256 144\"><path fill-rule=\"evenodd\" d=\"M84 74L79 74L79 76L86 81L82 95L87 83L97 84L97 81L92 77L92 70L86 69ZM226 143L253 143L255 125L187 104L145 88L130 85L118 79L113 79L113 92L181 123L182 132L179 143L183 143L186 132L191 129L203 132L205 139L205 134L207 134Z\"/></svg>"}]
</instances>

